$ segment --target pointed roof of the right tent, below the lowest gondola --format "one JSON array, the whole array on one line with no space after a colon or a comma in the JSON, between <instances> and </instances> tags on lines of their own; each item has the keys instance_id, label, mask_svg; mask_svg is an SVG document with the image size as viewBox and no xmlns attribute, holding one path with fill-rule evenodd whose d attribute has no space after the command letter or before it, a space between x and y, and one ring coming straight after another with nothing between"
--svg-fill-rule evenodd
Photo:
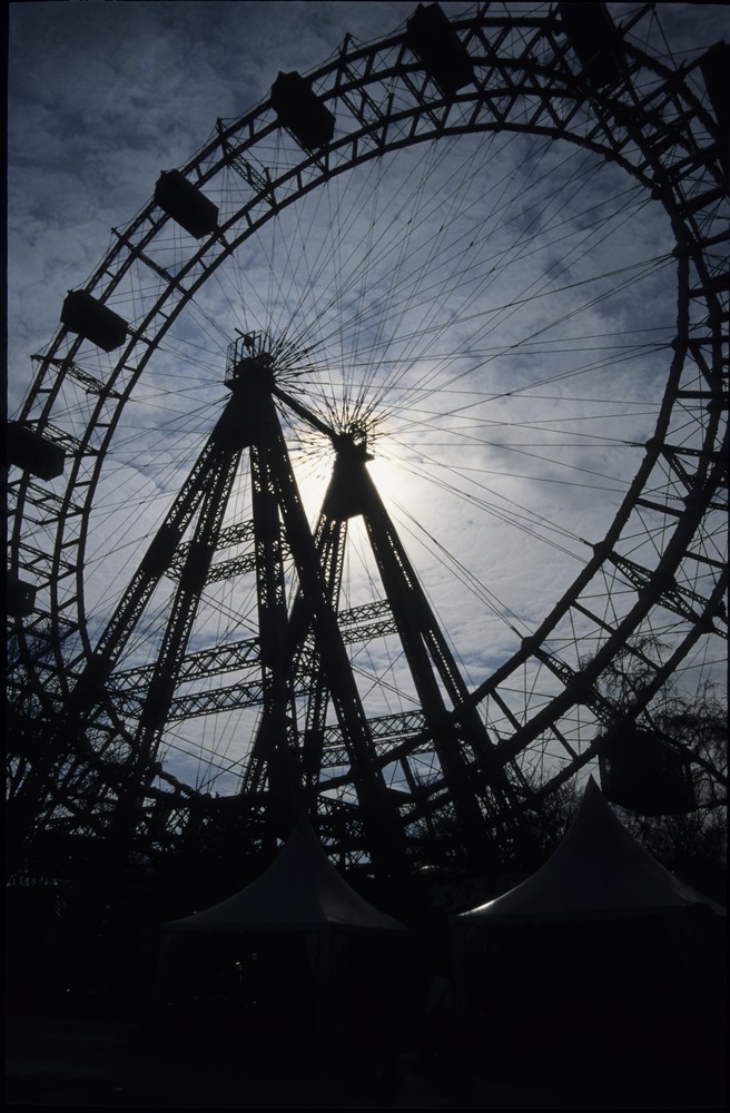
<instances>
[{"instance_id":1,"label":"pointed roof of the right tent, below the lowest gondola","mask_svg":"<svg viewBox=\"0 0 730 1113\"><path fill-rule=\"evenodd\" d=\"M724 909L684 885L640 846L590 779L573 824L540 869L514 889L462 913L462 926L641 916L704 905Z\"/></svg>"}]
</instances>

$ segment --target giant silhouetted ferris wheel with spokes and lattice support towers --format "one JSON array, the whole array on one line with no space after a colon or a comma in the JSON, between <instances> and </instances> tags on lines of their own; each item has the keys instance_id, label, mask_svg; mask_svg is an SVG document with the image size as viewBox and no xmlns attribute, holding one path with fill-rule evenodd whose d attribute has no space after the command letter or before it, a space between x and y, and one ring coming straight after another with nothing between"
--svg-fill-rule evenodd
<instances>
[{"instance_id":1,"label":"giant silhouetted ferris wheel with spokes and lattice support towers","mask_svg":"<svg viewBox=\"0 0 730 1113\"><path fill-rule=\"evenodd\" d=\"M10 425L32 838L500 860L727 636L727 48L650 9L418 6L112 230Z\"/></svg>"}]
</instances>

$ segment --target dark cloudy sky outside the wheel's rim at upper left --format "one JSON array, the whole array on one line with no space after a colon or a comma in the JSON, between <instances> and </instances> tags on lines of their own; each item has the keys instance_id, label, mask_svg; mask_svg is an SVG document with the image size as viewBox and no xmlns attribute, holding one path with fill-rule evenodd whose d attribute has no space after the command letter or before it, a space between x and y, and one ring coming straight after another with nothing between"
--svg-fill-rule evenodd
<instances>
[{"instance_id":1,"label":"dark cloudy sky outside the wheel's rim at upper left","mask_svg":"<svg viewBox=\"0 0 730 1113\"><path fill-rule=\"evenodd\" d=\"M324 63L346 33L402 27L407 2L10 3L8 56L10 411L23 359L58 304L101 258L109 228L149 199L215 120L270 90L279 70ZM450 12L470 4L447 3ZM515 4L530 9L541 6ZM542 6L544 7L544 6ZM631 4L612 4L616 13ZM726 4L662 4L674 57L730 35Z\"/></svg>"}]
</instances>

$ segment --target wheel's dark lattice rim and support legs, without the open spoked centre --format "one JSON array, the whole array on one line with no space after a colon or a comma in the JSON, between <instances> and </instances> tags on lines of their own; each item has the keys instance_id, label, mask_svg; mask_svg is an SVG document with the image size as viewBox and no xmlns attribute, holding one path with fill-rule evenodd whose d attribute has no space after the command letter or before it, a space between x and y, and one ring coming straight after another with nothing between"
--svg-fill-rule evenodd
<instances>
[{"instance_id":1,"label":"wheel's dark lattice rim and support legs, without the open spoked centre","mask_svg":"<svg viewBox=\"0 0 730 1113\"><path fill-rule=\"evenodd\" d=\"M395 889L443 863L468 873L485 856L493 870L532 861L543 796L596 757L593 728L615 721L600 679L632 633L653 609L672 615L677 666L727 626L714 544L727 445L720 55L697 62L708 106L683 69L635 46L629 31L643 18L648 10L619 23L603 4L561 3L450 20L437 4L418 6L397 35L368 47L346 40L310 77L282 73L263 105L218 121L69 292L11 426L11 698L21 706L32 693L8 748L14 877L92 877L100 855L117 878L175 869L185 878L194 863L205 873L221 861L233 876L239 848L251 870L303 809L343 869ZM531 636L512 627L507 659L467 683L367 470L375 410L359 386L338 406L310 404L300 385L323 372L316 353L247 324L221 376L229 394L106 613L103 592L89 588L89 539L114 489L103 469L116 435L129 433L134 456L125 407L204 283L338 175L405 146L493 131L578 144L620 164L663 205L677 236L662 247L677 258L679 324L655 435L603 539L575 539L586 562L561 599ZM229 195L224 180L235 181ZM337 376L327 367L324 377ZM71 404L77 395L82 405ZM314 528L289 455L295 425L335 456ZM239 481L250 491L246 515ZM637 553L647 514L661 528ZM362 605L344 602L353 525L371 561ZM250 637L231 623L220 641L198 643L206 593L246 577ZM41 632L49 652L39 654ZM374 639L402 662L405 709L391 708L387 669L372 686L377 700L366 699L353 647ZM598 647L590 662L588 642ZM665 676L657 666L624 709L640 728ZM176 731L233 713L249 716L246 756L236 787L217 797L208 774L185 780ZM197 757L190 767L207 761L208 772L218 760L204 743Z\"/></svg>"}]
</instances>

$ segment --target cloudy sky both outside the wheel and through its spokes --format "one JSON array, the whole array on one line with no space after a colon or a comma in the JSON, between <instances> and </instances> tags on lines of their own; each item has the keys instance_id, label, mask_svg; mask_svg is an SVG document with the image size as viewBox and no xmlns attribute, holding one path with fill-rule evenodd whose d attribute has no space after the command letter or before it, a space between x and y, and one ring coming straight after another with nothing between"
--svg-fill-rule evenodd
<instances>
[{"instance_id":1,"label":"cloudy sky both outside the wheel and through its spokes","mask_svg":"<svg viewBox=\"0 0 730 1113\"><path fill-rule=\"evenodd\" d=\"M471 8L444 7L452 16ZM364 43L395 32L413 8L10 4L10 415L32 378L29 356L58 328L66 292L103 257L110 229L147 204L160 170L185 165L216 119L233 120L264 100L279 71L323 65L345 33ZM610 8L620 18L634 6ZM723 4L660 8L653 49L677 59L730 35ZM667 252L657 247L667 243L667 226L620 175L599 175L590 159L563 148L490 147L486 188L485 150L467 139L458 150L444 145L441 157L406 152L313 194L201 293L160 351L125 426L127 449L121 439L100 484L87 573L95 630L219 412L228 341L236 328L280 335L285 325L296 358L306 342L317 374L326 364L318 383L314 374L299 382L318 413L344 420L345 394L352 407L356 396L373 407L371 472L470 682L535 628L603 535L653 429L664 374L657 349L671 337L673 317ZM357 263L365 259L367 267ZM349 285L328 302L327 284L353 260ZM316 324L307 326L307 313ZM618 333L625 351L596 342ZM176 378L182 364L187 378ZM82 403L75 405L81 420ZM310 516L332 466L315 440L299 430L293 447ZM348 605L373 593L365 558L355 571L364 550L355 535ZM250 591L233 600L219 590L199 620L196 647L255 630ZM154 641L164 601L155 607L130 667L144 663ZM367 688L376 663L363 656L359 666ZM401 686L402 662L377 668L394 690Z\"/></svg>"}]
</instances>

